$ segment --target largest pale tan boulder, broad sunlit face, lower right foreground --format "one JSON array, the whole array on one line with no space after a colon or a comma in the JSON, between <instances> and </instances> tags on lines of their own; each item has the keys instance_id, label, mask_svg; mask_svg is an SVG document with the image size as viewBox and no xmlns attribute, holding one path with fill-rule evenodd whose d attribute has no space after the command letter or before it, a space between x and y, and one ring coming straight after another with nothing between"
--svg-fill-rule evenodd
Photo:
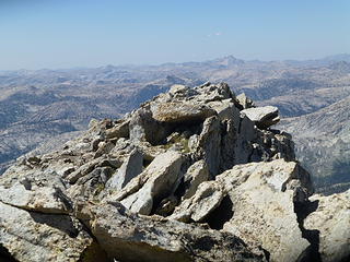
<instances>
[{"instance_id":1,"label":"largest pale tan boulder, broad sunlit face, lower right foreground","mask_svg":"<svg viewBox=\"0 0 350 262\"><path fill-rule=\"evenodd\" d=\"M270 261L295 261L310 245L294 213L295 190L289 187L299 180L299 170L296 163L278 159L237 165L218 176L233 203L233 217L223 230L260 245L270 253ZM300 183L307 191L307 180Z\"/></svg>"}]
</instances>

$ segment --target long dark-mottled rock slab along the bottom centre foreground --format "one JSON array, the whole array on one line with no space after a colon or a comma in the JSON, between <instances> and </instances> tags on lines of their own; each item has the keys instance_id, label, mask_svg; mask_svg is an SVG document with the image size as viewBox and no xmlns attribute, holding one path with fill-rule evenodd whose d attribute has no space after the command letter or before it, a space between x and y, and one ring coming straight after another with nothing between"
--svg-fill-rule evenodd
<instances>
[{"instance_id":1,"label":"long dark-mottled rock slab along the bottom centre foreground","mask_svg":"<svg viewBox=\"0 0 350 262\"><path fill-rule=\"evenodd\" d=\"M118 261L266 261L262 252L253 252L231 234L139 216L117 202L92 206L90 213L93 235Z\"/></svg>"}]
</instances>

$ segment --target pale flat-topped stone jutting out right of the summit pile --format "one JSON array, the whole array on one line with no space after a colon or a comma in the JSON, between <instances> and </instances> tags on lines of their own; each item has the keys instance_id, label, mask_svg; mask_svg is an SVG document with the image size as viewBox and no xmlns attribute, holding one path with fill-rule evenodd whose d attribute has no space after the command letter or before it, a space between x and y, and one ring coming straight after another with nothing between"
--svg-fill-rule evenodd
<instances>
[{"instance_id":1,"label":"pale flat-topped stone jutting out right of the summit pile","mask_svg":"<svg viewBox=\"0 0 350 262\"><path fill-rule=\"evenodd\" d=\"M272 106L248 108L241 111L260 129L267 129L280 121L278 108Z\"/></svg>"}]
</instances>

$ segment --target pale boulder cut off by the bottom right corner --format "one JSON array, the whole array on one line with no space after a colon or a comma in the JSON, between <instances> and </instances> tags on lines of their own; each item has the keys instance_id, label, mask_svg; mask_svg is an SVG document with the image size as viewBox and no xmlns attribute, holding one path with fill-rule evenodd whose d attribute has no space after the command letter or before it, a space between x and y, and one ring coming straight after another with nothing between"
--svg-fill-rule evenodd
<instances>
[{"instance_id":1,"label":"pale boulder cut off by the bottom right corner","mask_svg":"<svg viewBox=\"0 0 350 262\"><path fill-rule=\"evenodd\" d=\"M307 230L319 231L323 262L350 261L350 190L328 196L313 195L318 207L304 221Z\"/></svg>"}]
</instances>

